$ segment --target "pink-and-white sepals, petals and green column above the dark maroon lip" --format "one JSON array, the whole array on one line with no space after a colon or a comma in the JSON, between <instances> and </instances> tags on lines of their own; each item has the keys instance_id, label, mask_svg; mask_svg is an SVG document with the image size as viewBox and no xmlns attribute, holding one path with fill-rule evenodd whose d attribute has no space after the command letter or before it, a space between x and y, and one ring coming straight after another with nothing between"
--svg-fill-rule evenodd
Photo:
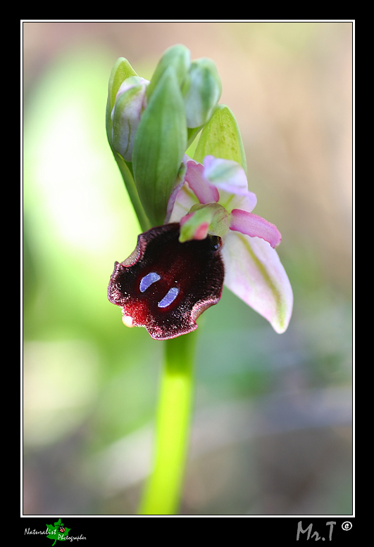
<instances>
[{"instance_id":1,"label":"pink-and-white sepals, petals and green column above the dark maroon lip","mask_svg":"<svg viewBox=\"0 0 374 547\"><path fill-rule=\"evenodd\" d=\"M282 236L274 224L252 213L257 200L248 190L244 169L211 155L203 164L187 155L183 162L185 171L170 195L166 221L180 222L183 240L208 233L220 236L227 288L264 316L277 333L285 332L293 295L275 251ZM212 203L216 210L202 214L201 208Z\"/></svg>"}]
</instances>

